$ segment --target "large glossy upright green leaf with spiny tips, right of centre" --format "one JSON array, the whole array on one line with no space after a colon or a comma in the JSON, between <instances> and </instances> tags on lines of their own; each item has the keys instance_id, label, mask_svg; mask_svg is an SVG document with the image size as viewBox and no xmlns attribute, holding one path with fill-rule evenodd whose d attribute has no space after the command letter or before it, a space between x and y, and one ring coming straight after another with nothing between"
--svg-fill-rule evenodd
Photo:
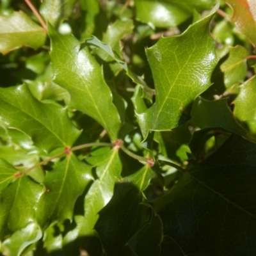
<instances>
[{"instance_id":1,"label":"large glossy upright green leaf with spiny tips, right of centre","mask_svg":"<svg viewBox=\"0 0 256 256\"><path fill-rule=\"evenodd\" d=\"M218 6L214 12L216 8ZM188 120L192 100L209 87L216 65L208 28L212 15L191 25L182 35L162 37L147 49L156 102L139 115L145 124L144 136L148 130L166 131Z\"/></svg>"}]
</instances>

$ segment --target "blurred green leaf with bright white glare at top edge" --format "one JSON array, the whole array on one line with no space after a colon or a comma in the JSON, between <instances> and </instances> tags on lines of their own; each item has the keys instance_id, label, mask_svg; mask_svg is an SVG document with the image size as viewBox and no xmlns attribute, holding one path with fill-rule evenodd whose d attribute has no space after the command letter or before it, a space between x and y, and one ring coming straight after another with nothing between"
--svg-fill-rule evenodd
<instances>
[{"instance_id":1,"label":"blurred green leaf with bright white glare at top edge","mask_svg":"<svg viewBox=\"0 0 256 256\"><path fill-rule=\"evenodd\" d=\"M215 4L215 0L136 0L136 18L157 28L178 26L193 15L193 9L204 10Z\"/></svg>"}]
</instances>

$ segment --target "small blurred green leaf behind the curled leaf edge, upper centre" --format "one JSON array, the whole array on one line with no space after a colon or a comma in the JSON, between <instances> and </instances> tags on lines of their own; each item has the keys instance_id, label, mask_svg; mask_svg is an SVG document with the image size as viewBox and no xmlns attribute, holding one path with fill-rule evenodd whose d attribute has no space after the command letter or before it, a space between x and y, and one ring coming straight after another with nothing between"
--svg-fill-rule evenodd
<instances>
[{"instance_id":1,"label":"small blurred green leaf behind the curled leaf edge, upper centre","mask_svg":"<svg viewBox=\"0 0 256 256\"><path fill-rule=\"evenodd\" d=\"M102 42L109 44L111 49L120 56L122 50L120 40L125 35L132 33L133 28L132 20L116 20L113 24L108 26L108 29L102 38ZM108 52L103 49L99 49L97 54L99 54L100 58L104 61L113 60Z\"/></svg>"}]
</instances>

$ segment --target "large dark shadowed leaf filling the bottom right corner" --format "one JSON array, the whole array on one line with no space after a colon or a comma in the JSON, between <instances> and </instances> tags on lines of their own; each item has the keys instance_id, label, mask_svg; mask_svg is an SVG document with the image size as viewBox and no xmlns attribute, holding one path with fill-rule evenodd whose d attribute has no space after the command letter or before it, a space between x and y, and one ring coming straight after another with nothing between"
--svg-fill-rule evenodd
<instances>
[{"instance_id":1,"label":"large dark shadowed leaf filling the bottom right corner","mask_svg":"<svg viewBox=\"0 0 256 256\"><path fill-rule=\"evenodd\" d=\"M254 143L233 135L154 202L182 255L256 252L255 154Z\"/></svg>"}]
</instances>

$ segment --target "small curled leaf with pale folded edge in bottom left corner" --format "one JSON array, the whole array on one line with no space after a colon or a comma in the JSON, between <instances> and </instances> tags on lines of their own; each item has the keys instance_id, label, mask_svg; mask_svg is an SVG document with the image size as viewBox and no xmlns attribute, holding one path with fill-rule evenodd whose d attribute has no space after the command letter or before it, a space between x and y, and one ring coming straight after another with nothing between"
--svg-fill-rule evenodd
<instances>
[{"instance_id":1,"label":"small curled leaf with pale folded edge in bottom left corner","mask_svg":"<svg viewBox=\"0 0 256 256\"><path fill-rule=\"evenodd\" d=\"M42 231L36 223L29 223L3 242L4 255L24 255L24 250L42 238Z\"/></svg>"}]
</instances>

